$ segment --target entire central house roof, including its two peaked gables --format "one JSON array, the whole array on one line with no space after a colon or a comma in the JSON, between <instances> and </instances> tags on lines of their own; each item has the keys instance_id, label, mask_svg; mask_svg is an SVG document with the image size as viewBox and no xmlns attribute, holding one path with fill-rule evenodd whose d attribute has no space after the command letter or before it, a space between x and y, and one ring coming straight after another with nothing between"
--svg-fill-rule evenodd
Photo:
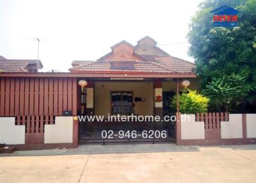
<instances>
[{"instance_id":1,"label":"entire central house roof, including its two peaked gables","mask_svg":"<svg viewBox=\"0 0 256 183\"><path fill-rule=\"evenodd\" d=\"M194 63L170 56L161 49L159 51L155 44L156 41L148 36L138 41L136 47L122 41L97 61L73 61L69 70L100 74L195 74ZM142 45L157 49L157 54L153 54L154 51L145 55L136 53L136 48L141 49Z\"/></svg>"}]
</instances>

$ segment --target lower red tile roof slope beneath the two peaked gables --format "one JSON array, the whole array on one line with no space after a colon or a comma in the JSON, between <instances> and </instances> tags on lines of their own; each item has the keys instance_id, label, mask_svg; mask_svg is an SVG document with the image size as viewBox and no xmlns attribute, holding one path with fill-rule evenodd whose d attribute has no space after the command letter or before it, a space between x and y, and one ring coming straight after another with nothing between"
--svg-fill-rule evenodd
<instances>
[{"instance_id":1,"label":"lower red tile roof slope beneath the two peaked gables","mask_svg":"<svg viewBox=\"0 0 256 183\"><path fill-rule=\"evenodd\" d=\"M143 56L138 60L105 60L81 63L71 72L133 74L195 74L195 65L173 56Z\"/></svg>"}]
</instances>

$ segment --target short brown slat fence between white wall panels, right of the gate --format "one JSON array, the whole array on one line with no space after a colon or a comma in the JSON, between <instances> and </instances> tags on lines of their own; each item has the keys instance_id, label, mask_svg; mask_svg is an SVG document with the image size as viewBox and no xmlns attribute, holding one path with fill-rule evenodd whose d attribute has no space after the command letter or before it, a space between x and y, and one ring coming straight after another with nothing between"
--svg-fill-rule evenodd
<instances>
[{"instance_id":1,"label":"short brown slat fence between white wall panels, right of the gate","mask_svg":"<svg viewBox=\"0 0 256 183\"><path fill-rule=\"evenodd\" d=\"M228 122L228 113L196 113L196 122L204 122L205 129L221 129L220 122Z\"/></svg>"}]
</instances>

